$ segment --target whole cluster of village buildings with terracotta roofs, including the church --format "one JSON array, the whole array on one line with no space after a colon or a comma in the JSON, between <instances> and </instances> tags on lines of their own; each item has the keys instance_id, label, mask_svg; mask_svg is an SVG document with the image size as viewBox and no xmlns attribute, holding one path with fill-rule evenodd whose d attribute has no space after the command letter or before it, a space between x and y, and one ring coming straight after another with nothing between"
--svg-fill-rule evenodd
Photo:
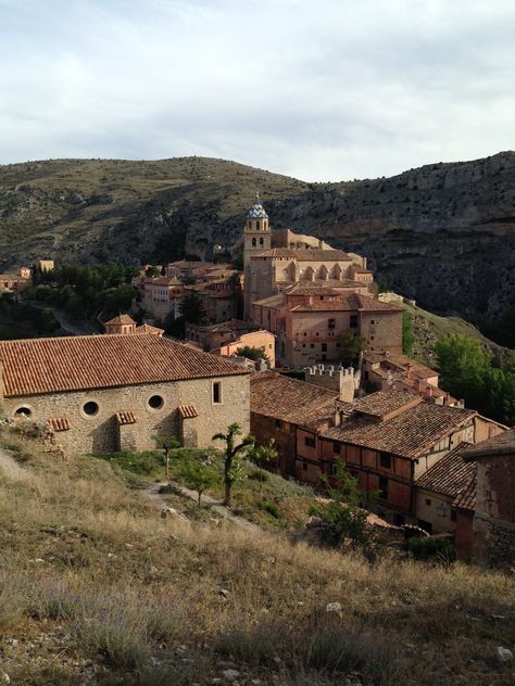
<instances>
[{"instance_id":1,"label":"whole cluster of village buildings with terracotta roofs, including the church","mask_svg":"<svg viewBox=\"0 0 515 686\"><path fill-rule=\"evenodd\" d=\"M190 325L188 342L128 315L103 335L1 341L0 410L46 423L70 454L148 449L160 433L208 447L236 422L275 440L285 477L321 488L344 468L395 524L451 533L464 558L515 564L515 430L465 408L402 355L402 309L378 298L363 258L278 233L287 245L272 246L258 199L243 234L243 318L234 309ZM221 265L166 269L141 277L143 298L171 306L191 279L206 298L221 279L238 281ZM150 295L161 287L162 300ZM360 369L331 364L342 331L367 341ZM267 363L239 364L244 347ZM304 380L274 369L285 360Z\"/></svg>"}]
</instances>

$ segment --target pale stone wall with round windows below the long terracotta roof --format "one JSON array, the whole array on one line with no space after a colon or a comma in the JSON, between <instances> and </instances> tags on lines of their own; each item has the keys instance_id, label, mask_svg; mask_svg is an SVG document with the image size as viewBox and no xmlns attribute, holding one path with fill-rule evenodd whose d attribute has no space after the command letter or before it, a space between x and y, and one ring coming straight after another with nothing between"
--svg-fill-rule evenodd
<instances>
[{"instance_id":1,"label":"pale stone wall with round windows below the long terracotta roof","mask_svg":"<svg viewBox=\"0 0 515 686\"><path fill-rule=\"evenodd\" d=\"M219 382L222 390L222 402L217 404L213 403L214 382ZM156 408L149 404L154 396L162 399L162 405ZM88 416L84 409L86 403L96 403L98 411ZM66 418L70 429L58 431L56 439L66 453L77 454L115 452L120 445L137 450L153 448L152 436L159 433L179 434L181 427L177 408L180 405L194 405L197 409L198 417L188 420L188 443L196 435L198 447L214 445L213 434L225 431L234 422L248 433L249 376L4 398L3 410L13 416L16 410L27 408L30 419L40 423L48 419ZM116 412L131 412L136 422L120 425Z\"/></svg>"}]
</instances>

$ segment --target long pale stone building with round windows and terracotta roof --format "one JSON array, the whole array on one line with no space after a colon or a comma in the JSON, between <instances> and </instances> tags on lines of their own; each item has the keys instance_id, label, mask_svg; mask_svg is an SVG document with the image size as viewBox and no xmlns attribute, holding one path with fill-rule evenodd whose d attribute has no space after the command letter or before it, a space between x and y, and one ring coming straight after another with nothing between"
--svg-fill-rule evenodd
<instances>
[{"instance_id":1,"label":"long pale stone building with round windows and terracotta roof","mask_svg":"<svg viewBox=\"0 0 515 686\"><path fill-rule=\"evenodd\" d=\"M249 372L159 335L0 342L0 408L48 422L65 452L142 450L173 433L206 447L249 431Z\"/></svg>"}]
</instances>

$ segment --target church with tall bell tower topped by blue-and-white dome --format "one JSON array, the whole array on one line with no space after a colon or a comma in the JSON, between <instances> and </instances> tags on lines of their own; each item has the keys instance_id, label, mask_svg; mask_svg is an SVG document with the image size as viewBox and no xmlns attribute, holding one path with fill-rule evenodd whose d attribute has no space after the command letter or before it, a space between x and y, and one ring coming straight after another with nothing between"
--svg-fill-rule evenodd
<instances>
[{"instance_id":1,"label":"church with tall bell tower topped by blue-and-white dome","mask_svg":"<svg viewBox=\"0 0 515 686\"><path fill-rule=\"evenodd\" d=\"M252 316L252 303L296 283L326 288L355 285L356 290L366 285L372 294L377 292L365 257L335 250L317 238L290 229L273 232L259 194L246 215L243 268L246 319Z\"/></svg>"}]
</instances>

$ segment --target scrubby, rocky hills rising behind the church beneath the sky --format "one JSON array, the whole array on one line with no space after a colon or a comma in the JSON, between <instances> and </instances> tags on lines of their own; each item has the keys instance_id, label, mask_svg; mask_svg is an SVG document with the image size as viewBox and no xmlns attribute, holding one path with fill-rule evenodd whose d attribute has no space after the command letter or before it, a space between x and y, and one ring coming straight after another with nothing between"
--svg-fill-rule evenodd
<instances>
[{"instance_id":1,"label":"scrubby, rocky hills rising behind the church beneath the sky","mask_svg":"<svg viewBox=\"0 0 515 686\"><path fill-rule=\"evenodd\" d=\"M305 183L234 162L56 160L0 166L0 270L36 258L165 262L238 240L259 190L276 228L360 252L422 306L495 315L515 289L515 153L391 178Z\"/></svg>"}]
</instances>

